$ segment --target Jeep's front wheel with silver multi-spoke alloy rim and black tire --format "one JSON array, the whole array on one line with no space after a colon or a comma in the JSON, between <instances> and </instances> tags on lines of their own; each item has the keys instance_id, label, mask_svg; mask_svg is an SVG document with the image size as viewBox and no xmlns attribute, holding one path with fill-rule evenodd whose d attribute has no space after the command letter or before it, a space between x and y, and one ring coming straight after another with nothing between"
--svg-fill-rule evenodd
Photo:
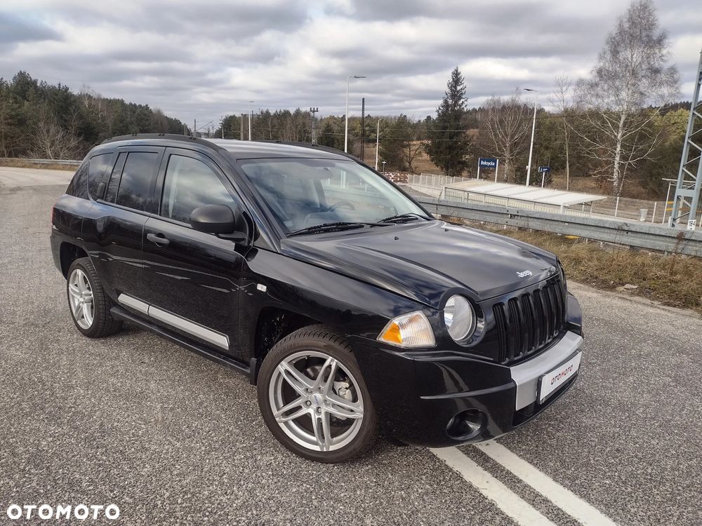
<instances>
[{"instance_id":1,"label":"Jeep's front wheel with silver multi-spoke alloy rim and black tire","mask_svg":"<svg viewBox=\"0 0 702 526\"><path fill-rule=\"evenodd\" d=\"M257 389L268 429L305 459L347 461L370 450L378 436L376 411L351 348L324 325L296 330L275 344Z\"/></svg>"}]
</instances>

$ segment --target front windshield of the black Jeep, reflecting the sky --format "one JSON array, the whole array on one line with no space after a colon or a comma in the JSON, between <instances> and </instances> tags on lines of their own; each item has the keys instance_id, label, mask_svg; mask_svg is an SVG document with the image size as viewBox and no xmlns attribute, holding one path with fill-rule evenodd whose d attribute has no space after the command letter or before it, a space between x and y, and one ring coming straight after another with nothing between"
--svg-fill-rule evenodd
<instances>
[{"instance_id":1,"label":"front windshield of the black Jeep, reflecting the sky","mask_svg":"<svg viewBox=\"0 0 702 526\"><path fill-rule=\"evenodd\" d=\"M427 217L390 182L354 161L257 159L240 166L286 234L402 214Z\"/></svg>"}]
</instances>

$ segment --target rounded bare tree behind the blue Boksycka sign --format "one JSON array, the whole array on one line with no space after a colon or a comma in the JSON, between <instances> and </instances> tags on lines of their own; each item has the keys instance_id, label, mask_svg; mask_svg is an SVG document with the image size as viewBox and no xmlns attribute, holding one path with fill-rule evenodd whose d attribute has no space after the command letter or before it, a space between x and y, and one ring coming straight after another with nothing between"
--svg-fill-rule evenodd
<instances>
[{"instance_id":1,"label":"rounded bare tree behind the blue Boksycka sign","mask_svg":"<svg viewBox=\"0 0 702 526\"><path fill-rule=\"evenodd\" d=\"M527 148L531 110L519 92L506 100L491 97L483 107L479 133L484 149L503 161L504 180L515 181L515 163Z\"/></svg>"}]
</instances>

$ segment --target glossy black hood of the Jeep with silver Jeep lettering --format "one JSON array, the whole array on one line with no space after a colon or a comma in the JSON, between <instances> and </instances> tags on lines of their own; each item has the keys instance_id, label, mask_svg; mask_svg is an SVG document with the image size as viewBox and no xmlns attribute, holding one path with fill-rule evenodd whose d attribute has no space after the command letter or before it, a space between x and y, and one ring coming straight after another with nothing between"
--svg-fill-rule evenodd
<instances>
[{"instance_id":1,"label":"glossy black hood of the Jeep with silver Jeep lettering","mask_svg":"<svg viewBox=\"0 0 702 526\"><path fill-rule=\"evenodd\" d=\"M286 256L434 308L446 290L467 289L482 301L557 272L550 252L443 221L296 236L281 248Z\"/></svg>"}]
</instances>

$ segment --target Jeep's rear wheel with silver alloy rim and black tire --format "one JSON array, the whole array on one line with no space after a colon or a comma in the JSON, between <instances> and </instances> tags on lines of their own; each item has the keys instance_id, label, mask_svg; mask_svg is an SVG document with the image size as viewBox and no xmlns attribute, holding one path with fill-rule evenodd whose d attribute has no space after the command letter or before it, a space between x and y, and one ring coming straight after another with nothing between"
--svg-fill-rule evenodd
<instances>
[{"instance_id":1,"label":"Jeep's rear wheel with silver alloy rim and black tire","mask_svg":"<svg viewBox=\"0 0 702 526\"><path fill-rule=\"evenodd\" d=\"M122 328L110 315L110 298L102 290L98 273L89 257L76 259L66 279L68 309L76 328L88 338L109 336Z\"/></svg>"}]
</instances>

